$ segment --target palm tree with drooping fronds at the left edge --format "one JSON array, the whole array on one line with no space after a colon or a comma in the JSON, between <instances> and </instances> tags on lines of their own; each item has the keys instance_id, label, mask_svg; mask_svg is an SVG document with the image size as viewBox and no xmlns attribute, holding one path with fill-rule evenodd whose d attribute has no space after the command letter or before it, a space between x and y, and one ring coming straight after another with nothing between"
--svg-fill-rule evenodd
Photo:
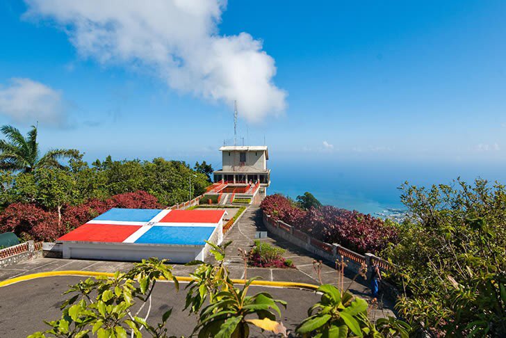
<instances>
[{"instance_id":1,"label":"palm tree with drooping fronds at the left edge","mask_svg":"<svg viewBox=\"0 0 506 338\"><path fill-rule=\"evenodd\" d=\"M6 138L0 140L0 169L31 172L35 168L65 168L60 164L60 160L79 157L79 151L73 149L49 150L40 157L37 127L31 127L26 137L13 126L5 125L0 128Z\"/></svg>"}]
</instances>

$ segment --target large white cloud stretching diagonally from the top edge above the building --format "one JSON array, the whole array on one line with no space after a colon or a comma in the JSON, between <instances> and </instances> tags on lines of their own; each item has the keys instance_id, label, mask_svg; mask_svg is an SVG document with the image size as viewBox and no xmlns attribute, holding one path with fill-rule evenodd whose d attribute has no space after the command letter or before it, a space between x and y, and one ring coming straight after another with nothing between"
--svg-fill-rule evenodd
<instances>
[{"instance_id":1,"label":"large white cloud stretching diagonally from the top edge above the building","mask_svg":"<svg viewBox=\"0 0 506 338\"><path fill-rule=\"evenodd\" d=\"M274 59L248 33L219 35L225 0L26 0L54 19L83 57L142 67L170 88L230 106L252 122L286 108Z\"/></svg>"}]
</instances>

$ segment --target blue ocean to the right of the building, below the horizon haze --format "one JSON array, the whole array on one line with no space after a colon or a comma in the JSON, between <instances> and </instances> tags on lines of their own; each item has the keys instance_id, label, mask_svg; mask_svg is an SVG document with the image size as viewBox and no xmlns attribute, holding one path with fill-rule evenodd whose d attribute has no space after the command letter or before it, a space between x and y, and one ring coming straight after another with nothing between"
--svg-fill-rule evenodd
<instances>
[{"instance_id":1,"label":"blue ocean to the right of the building, below the horizon haze","mask_svg":"<svg viewBox=\"0 0 506 338\"><path fill-rule=\"evenodd\" d=\"M291 160L269 161L271 186L268 194L282 193L291 198L305 191L323 204L357 210L364 214L405 210L400 202L403 182L416 186L452 184L462 177L471 182L477 177L506 183L504 166L493 163L435 163L395 161L342 161L318 163Z\"/></svg>"}]
</instances>

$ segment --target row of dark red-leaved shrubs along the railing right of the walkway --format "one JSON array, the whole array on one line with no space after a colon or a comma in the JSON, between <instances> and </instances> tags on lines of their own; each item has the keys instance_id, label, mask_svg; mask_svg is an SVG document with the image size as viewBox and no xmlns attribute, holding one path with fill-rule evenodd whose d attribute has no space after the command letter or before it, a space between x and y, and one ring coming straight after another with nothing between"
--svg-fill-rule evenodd
<instances>
[{"instance_id":1,"label":"row of dark red-leaved shrubs along the railing right of the walkway","mask_svg":"<svg viewBox=\"0 0 506 338\"><path fill-rule=\"evenodd\" d=\"M320 241L338 243L359 253L381 251L389 242L395 243L398 233L383 220L358 211L331 206L304 211L282 195L267 196L261 208L273 219L293 225Z\"/></svg>"}]
</instances>

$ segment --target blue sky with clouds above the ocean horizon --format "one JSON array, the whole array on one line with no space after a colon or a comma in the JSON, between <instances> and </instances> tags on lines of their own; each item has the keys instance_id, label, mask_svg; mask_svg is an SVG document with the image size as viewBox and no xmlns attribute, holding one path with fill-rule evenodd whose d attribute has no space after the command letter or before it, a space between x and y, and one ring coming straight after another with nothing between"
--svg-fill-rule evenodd
<instances>
[{"instance_id":1,"label":"blue sky with clouds above the ocean horizon","mask_svg":"<svg viewBox=\"0 0 506 338\"><path fill-rule=\"evenodd\" d=\"M163 156L219 166L237 97L240 136L255 144L265 136L271 158L506 163L504 1L217 6L189 9L202 31L191 21L176 33L148 27L161 27L162 39L135 21L170 17L160 8L105 16L101 25L93 21L101 13L85 6L2 1L0 124L26 131L38 120L42 147L75 147L88 160ZM114 32L115 19L122 31ZM159 42L174 58L146 51ZM197 42L224 46L214 55ZM194 65L181 71L179 62ZM35 90L33 102L11 102L13 88ZM42 115L36 95L45 95Z\"/></svg>"}]
</instances>

